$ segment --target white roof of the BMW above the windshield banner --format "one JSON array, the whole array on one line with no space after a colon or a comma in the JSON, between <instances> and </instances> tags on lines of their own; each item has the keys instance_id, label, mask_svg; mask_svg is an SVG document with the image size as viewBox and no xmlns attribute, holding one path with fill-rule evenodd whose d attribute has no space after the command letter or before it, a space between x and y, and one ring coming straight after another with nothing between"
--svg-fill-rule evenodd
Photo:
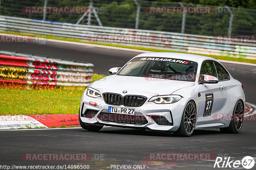
<instances>
[{"instance_id":1,"label":"white roof of the BMW above the windshield banner","mask_svg":"<svg viewBox=\"0 0 256 170\"><path fill-rule=\"evenodd\" d=\"M164 58L175 58L182 60L197 61L199 58L201 61L204 60L215 60L212 57L206 57L203 55L189 54L189 53L172 53L172 52L148 52L137 55L136 57L164 57Z\"/></svg>"}]
</instances>

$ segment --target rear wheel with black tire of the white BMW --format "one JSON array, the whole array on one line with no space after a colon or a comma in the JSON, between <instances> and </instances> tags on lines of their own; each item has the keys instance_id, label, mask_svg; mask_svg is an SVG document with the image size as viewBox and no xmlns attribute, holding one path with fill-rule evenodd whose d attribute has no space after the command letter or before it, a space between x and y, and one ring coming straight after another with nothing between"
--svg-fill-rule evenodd
<instances>
[{"instance_id":1,"label":"rear wheel with black tire of the white BMW","mask_svg":"<svg viewBox=\"0 0 256 170\"><path fill-rule=\"evenodd\" d=\"M221 133L238 133L244 121L244 104L241 100L236 102L230 124L227 128L220 128Z\"/></svg>"}]
</instances>

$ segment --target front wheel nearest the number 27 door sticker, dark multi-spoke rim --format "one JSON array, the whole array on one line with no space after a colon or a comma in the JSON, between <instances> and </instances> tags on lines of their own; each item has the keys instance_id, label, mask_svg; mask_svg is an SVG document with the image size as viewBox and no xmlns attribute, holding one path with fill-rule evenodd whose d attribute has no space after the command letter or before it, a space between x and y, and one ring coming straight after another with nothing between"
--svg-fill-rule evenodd
<instances>
[{"instance_id":1,"label":"front wheel nearest the number 27 door sticker, dark multi-spoke rim","mask_svg":"<svg viewBox=\"0 0 256 170\"><path fill-rule=\"evenodd\" d=\"M186 105L182 118L180 121L180 127L174 132L174 135L181 137L190 137L195 130L196 126L196 105L191 100Z\"/></svg>"}]
</instances>

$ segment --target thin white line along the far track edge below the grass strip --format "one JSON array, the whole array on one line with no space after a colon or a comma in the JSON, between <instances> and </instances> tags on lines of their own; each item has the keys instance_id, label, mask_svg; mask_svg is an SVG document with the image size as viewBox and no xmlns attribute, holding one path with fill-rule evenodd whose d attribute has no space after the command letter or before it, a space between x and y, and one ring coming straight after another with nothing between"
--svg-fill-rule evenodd
<instances>
[{"instance_id":1,"label":"thin white line along the far track edge below the grass strip","mask_svg":"<svg viewBox=\"0 0 256 170\"><path fill-rule=\"evenodd\" d=\"M13 34L3 34L3 33L1 33L1 35L17 36L17 35L13 35ZM29 36L27 36L27 37L28 37L28 39L34 39L34 37L29 37ZM141 53L154 52L154 51L137 50L137 49L131 49L131 48L122 48L122 47L114 47L114 46L103 46L103 45L87 44L87 43L80 43L80 42L73 42L73 41L63 41L63 40L57 40L57 39L45 39L45 41L58 42L58 43L66 43L66 44L75 44L75 45L80 45L80 46L93 46L93 47L100 47L100 48L109 48L109 49L114 49L114 50L141 52ZM238 61L228 61L228 60L218 60L218 61L226 62L226 63L232 63L232 64L243 64L243 65L248 65L248 66L256 66L256 64L253 64L253 63L244 63L244 62L238 62Z\"/></svg>"}]
</instances>

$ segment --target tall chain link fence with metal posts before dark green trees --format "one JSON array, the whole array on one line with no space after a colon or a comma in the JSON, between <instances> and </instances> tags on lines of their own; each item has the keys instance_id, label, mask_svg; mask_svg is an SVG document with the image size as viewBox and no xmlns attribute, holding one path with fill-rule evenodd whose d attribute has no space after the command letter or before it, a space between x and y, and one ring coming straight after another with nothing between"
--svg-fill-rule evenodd
<instances>
[{"instance_id":1,"label":"tall chain link fence with metal posts before dark green trees","mask_svg":"<svg viewBox=\"0 0 256 170\"><path fill-rule=\"evenodd\" d=\"M255 35L256 32L256 10L227 6L141 0L0 0L0 2L0 15L52 22L208 36ZM182 12L177 12L182 6ZM42 12L37 11L38 7L58 7L58 9L91 7L91 10L85 13ZM195 7L199 9L207 7L210 8L210 12L200 12L200 10L184 12L184 9L189 7L194 10ZM169 8L172 10L164 10Z\"/></svg>"}]
</instances>

